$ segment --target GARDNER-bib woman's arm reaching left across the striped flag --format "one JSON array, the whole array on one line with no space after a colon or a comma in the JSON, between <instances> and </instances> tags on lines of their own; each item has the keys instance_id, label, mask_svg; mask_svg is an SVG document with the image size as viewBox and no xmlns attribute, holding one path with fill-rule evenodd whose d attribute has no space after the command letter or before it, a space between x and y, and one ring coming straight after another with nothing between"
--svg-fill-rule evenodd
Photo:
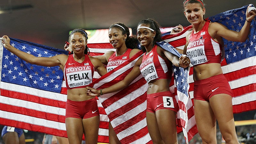
<instances>
[{"instance_id":1,"label":"GARDNER-bib woman's arm reaching left across the striped flag","mask_svg":"<svg viewBox=\"0 0 256 144\"><path fill-rule=\"evenodd\" d=\"M132 83L132 81L138 77L140 75L140 64L142 62L142 57L140 57L134 64L134 67L132 68L132 71L127 75L125 76L125 78L114 84L114 85L111 85L107 88L104 88L102 90L96 90L96 89L93 89L93 88L90 88L90 87L87 87L88 88L88 91L87 91L87 95L90 95L90 96L99 96L100 94L107 94L107 93L111 93L111 92L117 92L117 91L120 91L124 88L126 88L127 86L129 86L129 84Z\"/></svg>"}]
</instances>

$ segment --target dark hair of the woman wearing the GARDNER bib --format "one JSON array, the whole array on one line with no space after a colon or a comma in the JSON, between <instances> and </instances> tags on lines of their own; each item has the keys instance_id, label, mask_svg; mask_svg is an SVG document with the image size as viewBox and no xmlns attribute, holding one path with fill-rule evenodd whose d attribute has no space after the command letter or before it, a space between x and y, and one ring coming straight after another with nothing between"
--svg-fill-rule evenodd
<instances>
[{"instance_id":1,"label":"dark hair of the woman wearing the GARDNER bib","mask_svg":"<svg viewBox=\"0 0 256 144\"><path fill-rule=\"evenodd\" d=\"M152 28L153 30L156 31L156 36L154 37L153 40L153 45L156 44L156 42L161 42L162 40L162 33L160 31L160 25L158 24L158 22L156 20L153 19L146 19L146 20L141 20L138 24L138 26L140 24L146 24L149 26L149 28ZM143 50L143 52L146 52L146 48L144 46L141 47L141 49Z\"/></svg>"}]
</instances>

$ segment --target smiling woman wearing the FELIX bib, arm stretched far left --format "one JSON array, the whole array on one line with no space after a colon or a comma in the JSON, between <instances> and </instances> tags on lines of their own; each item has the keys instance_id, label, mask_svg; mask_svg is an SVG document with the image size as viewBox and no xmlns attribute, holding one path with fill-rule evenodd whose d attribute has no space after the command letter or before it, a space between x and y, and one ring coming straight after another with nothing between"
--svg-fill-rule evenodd
<instances>
[{"instance_id":1,"label":"smiling woman wearing the FELIX bib, arm stretched far left","mask_svg":"<svg viewBox=\"0 0 256 144\"><path fill-rule=\"evenodd\" d=\"M74 29L69 35L72 54L59 54L53 57L35 57L22 52L10 44L10 38L3 36L4 47L31 64L52 67L60 66L64 71L67 86L66 129L68 141L81 144L84 133L86 143L97 144L100 116L97 101L85 93L86 86L92 83L93 72L100 76L107 73L100 60L88 56L87 34L83 29Z\"/></svg>"}]
</instances>

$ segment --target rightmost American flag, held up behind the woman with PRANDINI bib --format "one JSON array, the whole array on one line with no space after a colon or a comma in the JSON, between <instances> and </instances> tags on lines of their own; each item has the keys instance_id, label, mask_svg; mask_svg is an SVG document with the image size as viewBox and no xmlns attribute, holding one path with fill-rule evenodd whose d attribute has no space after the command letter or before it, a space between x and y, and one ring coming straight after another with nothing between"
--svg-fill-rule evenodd
<instances>
[{"instance_id":1,"label":"rightmost American flag, held up behind the woman with PRANDINI bib","mask_svg":"<svg viewBox=\"0 0 256 144\"><path fill-rule=\"evenodd\" d=\"M209 17L228 29L240 31L245 22L247 6ZM224 76L233 92L233 112L256 109L256 22L251 22L248 39L244 43L224 40L225 60L221 63Z\"/></svg>"}]
</instances>

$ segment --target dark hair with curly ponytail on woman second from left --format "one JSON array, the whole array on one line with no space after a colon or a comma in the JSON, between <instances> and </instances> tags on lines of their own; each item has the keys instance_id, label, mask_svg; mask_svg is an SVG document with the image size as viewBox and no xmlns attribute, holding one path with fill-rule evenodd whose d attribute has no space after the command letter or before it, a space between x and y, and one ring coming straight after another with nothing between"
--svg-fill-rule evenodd
<instances>
[{"instance_id":1,"label":"dark hair with curly ponytail on woman second from left","mask_svg":"<svg viewBox=\"0 0 256 144\"><path fill-rule=\"evenodd\" d=\"M122 26L123 28L118 25ZM109 29L110 28L117 28L122 31L122 35L124 35L124 34L127 35L127 38L125 40L125 45L127 48L129 48L129 49L138 48L138 44L139 44L138 39L135 36L130 36L129 28L127 26L125 26L123 23L121 23L121 22L114 23L109 27Z\"/></svg>"}]
</instances>

